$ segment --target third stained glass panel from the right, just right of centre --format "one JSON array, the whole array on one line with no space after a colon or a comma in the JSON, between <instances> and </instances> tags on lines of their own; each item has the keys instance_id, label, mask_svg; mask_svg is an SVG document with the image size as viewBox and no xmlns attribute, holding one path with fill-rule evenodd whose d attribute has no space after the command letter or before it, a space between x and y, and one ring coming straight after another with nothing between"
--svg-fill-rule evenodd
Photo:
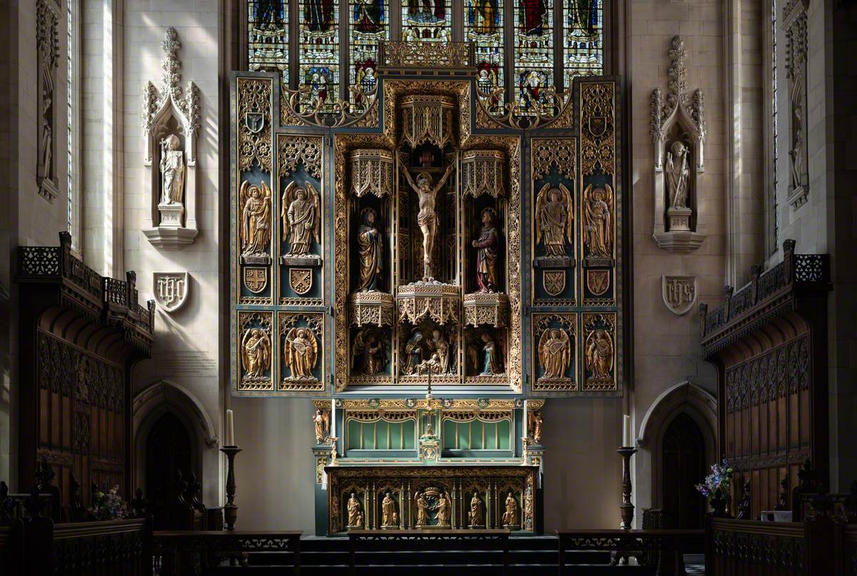
<instances>
[{"instance_id":1,"label":"third stained glass panel from the right, just right of centre","mask_svg":"<svg viewBox=\"0 0 857 576\"><path fill-rule=\"evenodd\" d=\"M479 91L504 86L502 0L464 0L464 39L476 46Z\"/></svg>"}]
</instances>

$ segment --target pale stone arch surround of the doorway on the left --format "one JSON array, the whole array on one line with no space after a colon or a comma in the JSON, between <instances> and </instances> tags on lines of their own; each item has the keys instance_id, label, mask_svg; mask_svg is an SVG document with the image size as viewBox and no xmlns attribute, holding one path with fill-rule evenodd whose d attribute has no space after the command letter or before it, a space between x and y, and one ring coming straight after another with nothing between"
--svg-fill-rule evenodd
<instances>
[{"instance_id":1,"label":"pale stone arch surround of the doorway on the left","mask_svg":"<svg viewBox=\"0 0 857 576\"><path fill-rule=\"evenodd\" d=\"M160 417L171 413L179 419L190 435L191 463L196 476L204 482L203 452L217 447L214 427L199 400L171 381L158 381L134 399L134 479L135 488L148 494L146 486L146 447L149 433Z\"/></svg>"}]
</instances>

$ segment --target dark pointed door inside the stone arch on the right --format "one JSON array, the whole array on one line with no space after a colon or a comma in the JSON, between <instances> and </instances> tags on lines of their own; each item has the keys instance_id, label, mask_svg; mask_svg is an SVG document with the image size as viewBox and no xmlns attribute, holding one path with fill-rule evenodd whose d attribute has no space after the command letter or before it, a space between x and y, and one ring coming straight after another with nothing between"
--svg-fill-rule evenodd
<instances>
[{"instance_id":1,"label":"dark pointed door inside the stone arch on the right","mask_svg":"<svg viewBox=\"0 0 857 576\"><path fill-rule=\"evenodd\" d=\"M705 444L691 417L681 413L663 435L663 511L674 528L702 528L704 499L694 484L705 477Z\"/></svg>"}]
</instances>

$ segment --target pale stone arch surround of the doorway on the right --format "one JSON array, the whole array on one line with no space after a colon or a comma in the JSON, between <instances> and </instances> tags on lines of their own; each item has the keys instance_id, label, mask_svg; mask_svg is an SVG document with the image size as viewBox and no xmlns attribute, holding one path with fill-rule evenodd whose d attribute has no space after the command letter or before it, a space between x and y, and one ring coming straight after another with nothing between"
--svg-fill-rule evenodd
<instances>
[{"instance_id":1,"label":"pale stone arch surround of the doorway on the right","mask_svg":"<svg viewBox=\"0 0 857 576\"><path fill-rule=\"evenodd\" d=\"M717 454L717 401L715 397L683 381L668 388L652 403L640 424L637 437L637 502L641 508L663 506L663 436L669 423L679 414L686 414L702 433L707 464L713 464ZM699 478L702 481L702 478ZM648 502L647 498L648 496ZM642 519L642 514L640 514Z\"/></svg>"}]
</instances>

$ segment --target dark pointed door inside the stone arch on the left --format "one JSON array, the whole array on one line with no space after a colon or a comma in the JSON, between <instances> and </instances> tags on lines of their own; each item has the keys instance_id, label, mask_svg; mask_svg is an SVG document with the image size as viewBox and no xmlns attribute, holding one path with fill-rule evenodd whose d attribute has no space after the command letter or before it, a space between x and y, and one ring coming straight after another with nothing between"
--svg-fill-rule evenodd
<instances>
[{"instance_id":1,"label":"dark pointed door inside the stone arch on the left","mask_svg":"<svg viewBox=\"0 0 857 576\"><path fill-rule=\"evenodd\" d=\"M187 480L193 471L190 436L184 424L171 412L156 422L146 443L146 487L155 530L176 525L177 475Z\"/></svg>"}]
</instances>

